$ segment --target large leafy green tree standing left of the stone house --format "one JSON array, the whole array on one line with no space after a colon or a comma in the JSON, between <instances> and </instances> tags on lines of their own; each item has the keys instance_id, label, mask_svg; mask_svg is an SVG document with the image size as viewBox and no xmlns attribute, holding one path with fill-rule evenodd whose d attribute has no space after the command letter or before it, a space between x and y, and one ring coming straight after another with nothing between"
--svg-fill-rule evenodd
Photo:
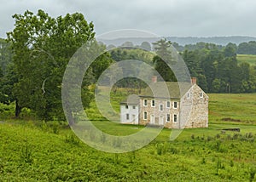
<instances>
[{"instance_id":1,"label":"large leafy green tree standing left of the stone house","mask_svg":"<svg viewBox=\"0 0 256 182\"><path fill-rule=\"evenodd\" d=\"M94 26L83 14L51 18L43 10L15 14L15 29L8 33L17 76L13 88L16 116L30 108L44 120L64 119L61 82L68 61L84 43L94 38ZM84 106L90 103L89 82L84 82Z\"/></svg>"}]
</instances>

